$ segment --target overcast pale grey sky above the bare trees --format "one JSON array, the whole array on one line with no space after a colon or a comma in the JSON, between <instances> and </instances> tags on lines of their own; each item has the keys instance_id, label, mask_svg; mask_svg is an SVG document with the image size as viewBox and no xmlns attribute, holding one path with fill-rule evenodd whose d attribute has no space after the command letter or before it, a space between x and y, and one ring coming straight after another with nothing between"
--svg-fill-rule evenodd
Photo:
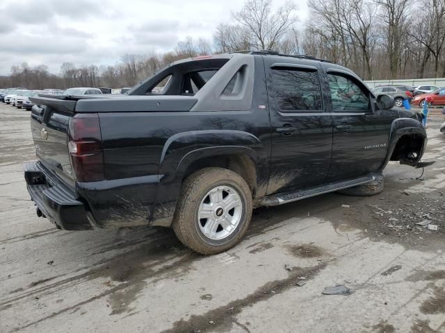
<instances>
[{"instance_id":1,"label":"overcast pale grey sky above the bare trees","mask_svg":"<svg viewBox=\"0 0 445 333\"><path fill-rule=\"evenodd\" d=\"M285 0L273 0L277 7ZM294 1L300 21L305 0ZM179 40L211 39L241 0L1 0L0 75L28 62L58 74L63 62L113 65L125 53L175 49Z\"/></svg>"}]
</instances>

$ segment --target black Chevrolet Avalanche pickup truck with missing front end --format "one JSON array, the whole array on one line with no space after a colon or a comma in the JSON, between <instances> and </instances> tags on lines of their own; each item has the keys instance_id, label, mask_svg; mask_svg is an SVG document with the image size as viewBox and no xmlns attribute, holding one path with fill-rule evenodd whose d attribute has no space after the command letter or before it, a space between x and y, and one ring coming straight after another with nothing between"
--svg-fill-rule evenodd
<instances>
[{"instance_id":1,"label":"black Chevrolet Avalanche pickup truck with missing front end","mask_svg":"<svg viewBox=\"0 0 445 333\"><path fill-rule=\"evenodd\" d=\"M163 225L203 254L243 237L252 208L382 191L419 166L421 115L349 69L256 51L172 63L128 95L31 98L38 216L57 228Z\"/></svg>"}]
</instances>

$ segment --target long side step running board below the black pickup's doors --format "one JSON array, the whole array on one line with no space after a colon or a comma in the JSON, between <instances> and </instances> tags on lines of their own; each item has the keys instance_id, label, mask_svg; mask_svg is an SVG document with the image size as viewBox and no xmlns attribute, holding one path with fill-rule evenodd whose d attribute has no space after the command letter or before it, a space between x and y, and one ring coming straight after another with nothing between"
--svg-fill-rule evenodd
<instances>
[{"instance_id":1,"label":"long side step running board below the black pickup's doors","mask_svg":"<svg viewBox=\"0 0 445 333\"><path fill-rule=\"evenodd\" d=\"M312 189L303 189L292 193L286 192L281 194L274 194L272 196L266 196L263 200L261 200L260 205L283 205L284 203L291 203L293 201L311 198L312 196L318 196L320 194L338 191L339 189L347 189L348 187L355 187L357 185L366 184L368 182L372 182L373 180L375 180L375 177L373 175L368 175L351 180L345 180L342 182L332 182L330 184L320 187L314 187Z\"/></svg>"}]
</instances>

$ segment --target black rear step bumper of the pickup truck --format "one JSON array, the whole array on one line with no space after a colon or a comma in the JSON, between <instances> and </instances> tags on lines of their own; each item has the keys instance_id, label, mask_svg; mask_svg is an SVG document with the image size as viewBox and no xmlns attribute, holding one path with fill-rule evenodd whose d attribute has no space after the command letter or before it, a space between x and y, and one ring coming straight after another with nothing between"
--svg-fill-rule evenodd
<instances>
[{"instance_id":1,"label":"black rear step bumper of the pickup truck","mask_svg":"<svg viewBox=\"0 0 445 333\"><path fill-rule=\"evenodd\" d=\"M37 206L38 216L63 230L92 230L92 216L75 194L40 162L24 164L26 187Z\"/></svg>"}]
</instances>

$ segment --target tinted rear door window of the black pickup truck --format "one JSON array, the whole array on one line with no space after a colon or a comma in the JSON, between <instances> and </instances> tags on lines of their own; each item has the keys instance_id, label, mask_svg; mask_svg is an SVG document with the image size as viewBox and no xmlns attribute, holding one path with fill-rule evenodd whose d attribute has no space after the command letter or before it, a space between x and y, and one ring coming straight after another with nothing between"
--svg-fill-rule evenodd
<instances>
[{"instance_id":1,"label":"tinted rear door window of the black pickup truck","mask_svg":"<svg viewBox=\"0 0 445 333\"><path fill-rule=\"evenodd\" d=\"M316 71L272 69L272 96L283 112L320 111L320 83Z\"/></svg>"}]
</instances>

